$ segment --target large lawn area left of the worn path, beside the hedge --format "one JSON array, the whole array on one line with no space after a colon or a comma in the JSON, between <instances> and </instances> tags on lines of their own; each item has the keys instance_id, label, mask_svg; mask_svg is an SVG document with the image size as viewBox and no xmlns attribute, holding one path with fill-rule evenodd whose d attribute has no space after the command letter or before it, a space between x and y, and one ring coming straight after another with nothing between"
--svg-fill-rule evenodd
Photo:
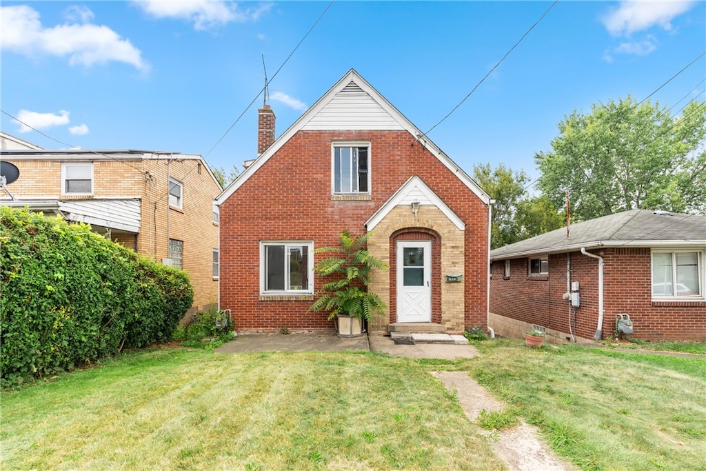
<instances>
[{"instance_id":1,"label":"large lawn area left of the worn path, beside the hedge","mask_svg":"<svg viewBox=\"0 0 706 471\"><path fill-rule=\"evenodd\" d=\"M414 360L132 352L3 394L1 469L429 469L502 465Z\"/></svg>"}]
</instances>

